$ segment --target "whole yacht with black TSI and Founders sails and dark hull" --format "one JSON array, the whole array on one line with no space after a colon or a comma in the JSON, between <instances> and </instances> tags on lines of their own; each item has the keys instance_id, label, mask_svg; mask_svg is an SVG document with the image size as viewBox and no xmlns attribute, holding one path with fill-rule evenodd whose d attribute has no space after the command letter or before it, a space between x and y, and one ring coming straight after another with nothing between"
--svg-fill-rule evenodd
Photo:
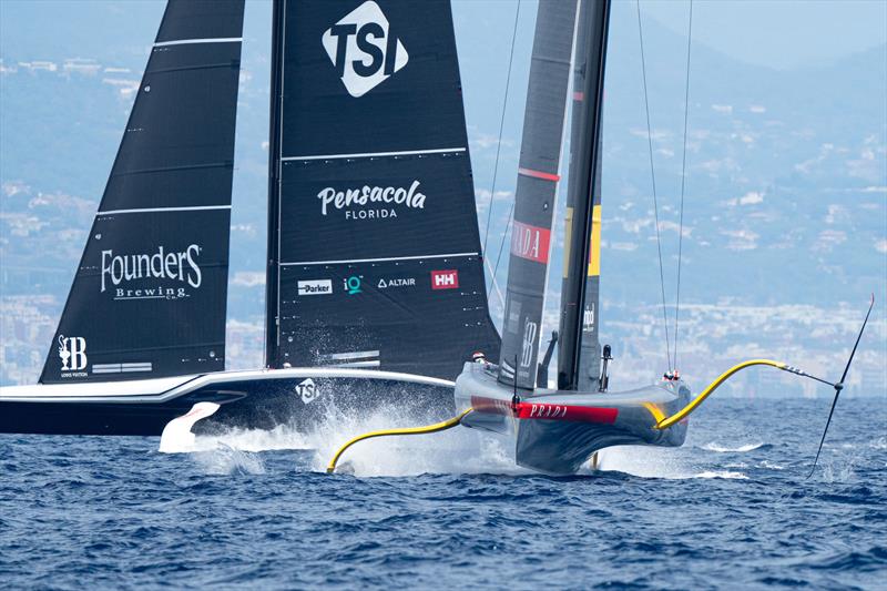
<instances>
[{"instance_id":1,"label":"whole yacht with black TSI and Founders sails and dark hull","mask_svg":"<svg viewBox=\"0 0 887 591\"><path fill-rule=\"evenodd\" d=\"M265 367L226 371L244 0L169 0L39 384L0 432L453 410L499 354L448 0L275 0Z\"/></svg>"}]
</instances>

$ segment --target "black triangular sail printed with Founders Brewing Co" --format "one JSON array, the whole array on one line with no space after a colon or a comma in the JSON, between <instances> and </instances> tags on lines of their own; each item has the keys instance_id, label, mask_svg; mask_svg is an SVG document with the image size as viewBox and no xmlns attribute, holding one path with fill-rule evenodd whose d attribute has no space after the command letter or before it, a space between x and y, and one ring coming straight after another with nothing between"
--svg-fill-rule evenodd
<instances>
[{"instance_id":1,"label":"black triangular sail printed with Founders Brewing Co","mask_svg":"<svg viewBox=\"0 0 887 591\"><path fill-rule=\"evenodd\" d=\"M243 0L170 0L42 383L215 371Z\"/></svg>"}]
</instances>

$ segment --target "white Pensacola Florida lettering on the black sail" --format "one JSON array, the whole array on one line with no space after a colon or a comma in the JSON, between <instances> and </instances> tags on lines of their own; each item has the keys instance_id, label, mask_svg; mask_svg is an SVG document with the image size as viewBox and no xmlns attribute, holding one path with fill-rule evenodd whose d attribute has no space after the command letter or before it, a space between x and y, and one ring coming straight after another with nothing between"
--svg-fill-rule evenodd
<instances>
[{"instance_id":1,"label":"white Pensacola Florida lettering on the black sail","mask_svg":"<svg viewBox=\"0 0 887 591\"><path fill-rule=\"evenodd\" d=\"M345 220L383 220L397 217L404 210L424 210L425 194L419 191L419 181L405 186L368 186L338 191L328 186L317 193L320 215L330 211L341 212Z\"/></svg>"}]
</instances>

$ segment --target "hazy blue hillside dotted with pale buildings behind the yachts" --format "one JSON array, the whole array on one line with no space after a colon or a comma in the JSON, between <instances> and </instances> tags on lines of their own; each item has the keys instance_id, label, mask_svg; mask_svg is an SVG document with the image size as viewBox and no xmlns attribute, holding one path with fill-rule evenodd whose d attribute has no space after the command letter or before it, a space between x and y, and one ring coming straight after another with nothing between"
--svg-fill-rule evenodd
<instances>
[{"instance_id":1,"label":"hazy blue hillside dotted with pale buildings behind the yachts","mask_svg":"<svg viewBox=\"0 0 887 591\"><path fill-rule=\"evenodd\" d=\"M82 17L70 3L59 6L70 14L63 12L65 19L49 24L24 18L11 24L10 19L27 11L4 8L0 43L0 295L51 295L39 306L45 317L40 322L48 326L54 325L70 285L162 12L162 4L140 3L131 17L140 20L132 30L139 29L142 38L111 27L99 39L78 27ZM108 19L128 17L114 17L114 6L93 8L108 11ZM514 186L533 10L526 3L519 26L489 240L492 258ZM498 18L489 3L456 2L455 17L483 227L513 12L501 10ZM261 329L256 323L264 294L268 18L264 3L247 7L232 223L230 313L245 322L238 326L251 335L249 344L261 342L254 332ZM634 18L616 4L604 124L603 323L604 336L621 343L623 354L631 349L649 363L660 356L662 338L655 319L661 314L655 308L659 271ZM672 298L686 45L685 39L653 20L644 22L644 35L660 227ZM761 335L783 322L803 324L810 315L817 324L845 315L850 323L869 292L887 292L886 102L887 45L792 71L748 65L694 45L682 293L697 307L696 329L689 334L710 338L717 348L711 335L726 323L732 328L723 335L725 349L754 340L746 332L747 320L740 319L752 314L748 309L765 310ZM502 285L506 272L503 264L498 274ZM559 287L559 269L552 271L553 288ZM706 306L718 304L721 309L738 310L736 316L712 316ZM799 307L788 312L785 306ZM495 317L498 307L493 297ZM782 316L768 317L767 309ZM870 342L876 377L878 365L887 359L883 309ZM550 314L554 313L552 303ZM835 339L845 346L852 336L844 332L824 336L802 329L779 348L801 346L798 355L814 358L818 354L813 351L830 347ZM45 338L22 336L32 353L21 354L27 359L17 363L31 363L35 355L39 364ZM247 351L251 346L243 348L252 360L257 353Z\"/></svg>"}]
</instances>

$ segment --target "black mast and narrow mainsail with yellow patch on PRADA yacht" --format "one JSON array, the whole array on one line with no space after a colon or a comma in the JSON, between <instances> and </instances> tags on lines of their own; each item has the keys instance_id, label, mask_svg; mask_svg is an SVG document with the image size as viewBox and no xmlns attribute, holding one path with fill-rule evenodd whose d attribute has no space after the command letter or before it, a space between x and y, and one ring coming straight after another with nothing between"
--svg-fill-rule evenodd
<instances>
[{"instance_id":1,"label":"black mast and narrow mainsail with yellow patch on PRADA yacht","mask_svg":"<svg viewBox=\"0 0 887 591\"><path fill-rule=\"evenodd\" d=\"M573 82L558 388L598 389L601 122L610 0L581 0Z\"/></svg>"}]
</instances>

